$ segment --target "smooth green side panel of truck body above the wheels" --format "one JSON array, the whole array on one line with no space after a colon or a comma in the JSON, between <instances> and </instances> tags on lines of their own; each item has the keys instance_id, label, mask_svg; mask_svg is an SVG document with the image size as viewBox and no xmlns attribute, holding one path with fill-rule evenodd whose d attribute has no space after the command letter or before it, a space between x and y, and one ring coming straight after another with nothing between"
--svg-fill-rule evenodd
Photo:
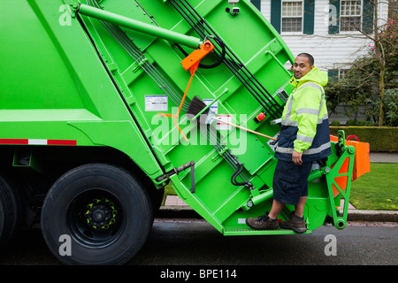
<instances>
[{"instance_id":1,"label":"smooth green side panel of truck body above the wheels","mask_svg":"<svg viewBox=\"0 0 398 283\"><path fill-rule=\"evenodd\" d=\"M112 146L149 176L162 173L159 164L147 162L154 158L148 145L142 142L87 34L77 19L69 17L63 1L11 1L0 13L2 30L7 31L0 35L4 62L0 67L0 139L66 139L77 141L78 146ZM64 22L65 17L69 21ZM109 121L129 123L124 136L140 146L111 142L109 131L94 133L94 127L89 127L84 132L73 126L103 122L109 130ZM102 137L97 138L100 133Z\"/></svg>"}]
</instances>

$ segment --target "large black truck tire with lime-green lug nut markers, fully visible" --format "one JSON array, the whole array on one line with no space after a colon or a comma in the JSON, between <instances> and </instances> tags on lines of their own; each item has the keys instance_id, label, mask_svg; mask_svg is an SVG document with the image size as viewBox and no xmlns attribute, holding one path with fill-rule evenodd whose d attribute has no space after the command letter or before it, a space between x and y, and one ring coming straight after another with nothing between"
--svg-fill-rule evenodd
<instances>
[{"instance_id":1,"label":"large black truck tire with lime-green lug nut markers, fully visible","mask_svg":"<svg viewBox=\"0 0 398 283\"><path fill-rule=\"evenodd\" d=\"M44 240L64 264L125 264L142 248L152 223L145 189L110 164L66 172L42 206Z\"/></svg>"}]
</instances>

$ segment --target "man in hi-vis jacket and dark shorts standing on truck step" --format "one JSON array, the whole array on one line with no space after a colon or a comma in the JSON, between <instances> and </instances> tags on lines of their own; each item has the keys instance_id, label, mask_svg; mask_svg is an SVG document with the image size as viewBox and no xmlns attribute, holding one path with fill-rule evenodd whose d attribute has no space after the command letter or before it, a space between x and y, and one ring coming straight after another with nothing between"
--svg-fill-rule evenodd
<instances>
[{"instance_id":1,"label":"man in hi-vis jacket and dark shorts standing on truck step","mask_svg":"<svg viewBox=\"0 0 398 283\"><path fill-rule=\"evenodd\" d=\"M331 154L329 121L324 88L327 73L314 66L314 57L300 53L295 57L295 86L282 113L281 130L273 176L273 202L270 212L258 218L247 218L246 224L256 230L275 230L280 226L296 233L307 231L303 218L308 195L308 177L313 162ZM279 212L286 203L295 205L287 221L278 224Z\"/></svg>"}]
</instances>

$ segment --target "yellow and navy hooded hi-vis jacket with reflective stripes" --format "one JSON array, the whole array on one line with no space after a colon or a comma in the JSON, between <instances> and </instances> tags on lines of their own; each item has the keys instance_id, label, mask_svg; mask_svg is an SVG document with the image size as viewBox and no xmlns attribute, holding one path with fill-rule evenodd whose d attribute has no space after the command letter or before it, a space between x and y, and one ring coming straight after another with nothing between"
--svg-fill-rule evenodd
<instances>
[{"instance_id":1,"label":"yellow and navy hooded hi-vis jacket with reflective stripes","mask_svg":"<svg viewBox=\"0 0 398 283\"><path fill-rule=\"evenodd\" d=\"M275 157L292 161L293 150L301 153L302 161L316 161L331 154L329 120L325 91L327 74L314 67L301 79L291 81L295 90L282 113Z\"/></svg>"}]
</instances>

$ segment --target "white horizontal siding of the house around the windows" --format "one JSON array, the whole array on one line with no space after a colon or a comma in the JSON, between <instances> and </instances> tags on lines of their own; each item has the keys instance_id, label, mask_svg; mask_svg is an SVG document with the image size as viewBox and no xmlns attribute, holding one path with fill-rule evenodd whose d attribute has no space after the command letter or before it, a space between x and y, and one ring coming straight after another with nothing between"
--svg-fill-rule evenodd
<instances>
[{"instance_id":1,"label":"white horizontal siding of the house around the windows","mask_svg":"<svg viewBox=\"0 0 398 283\"><path fill-rule=\"evenodd\" d=\"M321 70L344 69L356 59L366 55L371 49L371 40L360 33L328 33L329 0L315 1L314 34L281 34L293 55L310 53L315 65ZM387 19L387 0L380 1L379 17ZM271 1L262 0L261 12L265 19L271 20ZM380 23L386 21L380 20Z\"/></svg>"}]
</instances>

